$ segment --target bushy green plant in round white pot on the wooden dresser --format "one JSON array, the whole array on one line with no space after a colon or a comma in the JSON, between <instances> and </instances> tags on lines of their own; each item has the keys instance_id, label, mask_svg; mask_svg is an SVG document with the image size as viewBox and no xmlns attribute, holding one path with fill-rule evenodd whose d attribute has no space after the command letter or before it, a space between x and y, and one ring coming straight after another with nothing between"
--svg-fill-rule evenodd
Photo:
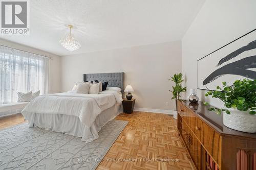
<instances>
[{"instance_id":1,"label":"bushy green plant in round white pot on the wooden dresser","mask_svg":"<svg viewBox=\"0 0 256 170\"><path fill-rule=\"evenodd\" d=\"M236 80L232 86L222 82L218 91L208 91L205 96L219 98L224 102L224 107L209 108L217 114L223 114L223 124L231 129L256 133L256 80ZM208 103L205 103L208 105Z\"/></svg>"}]
</instances>

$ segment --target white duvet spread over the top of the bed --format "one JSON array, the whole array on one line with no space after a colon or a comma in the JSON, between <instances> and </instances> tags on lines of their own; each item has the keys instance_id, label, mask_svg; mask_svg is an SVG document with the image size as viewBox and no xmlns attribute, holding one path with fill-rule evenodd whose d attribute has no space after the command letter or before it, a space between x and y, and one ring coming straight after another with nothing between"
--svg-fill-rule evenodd
<instances>
[{"instance_id":1,"label":"white duvet spread over the top of the bed","mask_svg":"<svg viewBox=\"0 0 256 170\"><path fill-rule=\"evenodd\" d=\"M120 94L111 90L99 94L45 94L32 100L23 109L22 114L25 118L30 113L73 115L79 117L84 126L90 128L97 115L121 101Z\"/></svg>"}]
</instances>

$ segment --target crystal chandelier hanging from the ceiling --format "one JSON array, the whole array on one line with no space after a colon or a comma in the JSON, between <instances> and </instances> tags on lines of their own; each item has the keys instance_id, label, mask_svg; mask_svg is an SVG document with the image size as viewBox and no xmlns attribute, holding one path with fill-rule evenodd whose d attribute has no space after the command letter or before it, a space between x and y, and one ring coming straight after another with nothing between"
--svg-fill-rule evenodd
<instances>
[{"instance_id":1,"label":"crystal chandelier hanging from the ceiling","mask_svg":"<svg viewBox=\"0 0 256 170\"><path fill-rule=\"evenodd\" d=\"M74 38L73 34L71 34L71 29L73 28L72 25L68 25L69 29L70 29L70 33L59 40L59 43L65 47L68 51L75 51L78 48L81 47L81 44Z\"/></svg>"}]
</instances>

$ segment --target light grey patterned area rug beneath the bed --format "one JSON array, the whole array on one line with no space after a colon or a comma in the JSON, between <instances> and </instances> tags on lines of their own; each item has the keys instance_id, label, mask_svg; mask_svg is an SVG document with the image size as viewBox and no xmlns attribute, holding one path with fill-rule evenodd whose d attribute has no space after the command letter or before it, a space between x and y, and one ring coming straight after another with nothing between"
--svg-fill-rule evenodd
<instances>
[{"instance_id":1,"label":"light grey patterned area rug beneath the bed","mask_svg":"<svg viewBox=\"0 0 256 170\"><path fill-rule=\"evenodd\" d=\"M95 169L128 122L112 120L99 138L81 138L27 123L0 131L0 169Z\"/></svg>"}]
</instances>

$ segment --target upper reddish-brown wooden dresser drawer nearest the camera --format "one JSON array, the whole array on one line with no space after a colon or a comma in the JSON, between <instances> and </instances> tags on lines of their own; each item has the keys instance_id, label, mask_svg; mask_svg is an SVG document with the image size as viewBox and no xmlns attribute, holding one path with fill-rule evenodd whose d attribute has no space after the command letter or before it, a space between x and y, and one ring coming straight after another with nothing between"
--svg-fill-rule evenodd
<instances>
[{"instance_id":1,"label":"upper reddish-brown wooden dresser drawer nearest the camera","mask_svg":"<svg viewBox=\"0 0 256 170\"><path fill-rule=\"evenodd\" d=\"M201 143L205 150L214 158L214 160L221 163L221 136L213 130L211 127L206 125L201 120Z\"/></svg>"}]
</instances>

